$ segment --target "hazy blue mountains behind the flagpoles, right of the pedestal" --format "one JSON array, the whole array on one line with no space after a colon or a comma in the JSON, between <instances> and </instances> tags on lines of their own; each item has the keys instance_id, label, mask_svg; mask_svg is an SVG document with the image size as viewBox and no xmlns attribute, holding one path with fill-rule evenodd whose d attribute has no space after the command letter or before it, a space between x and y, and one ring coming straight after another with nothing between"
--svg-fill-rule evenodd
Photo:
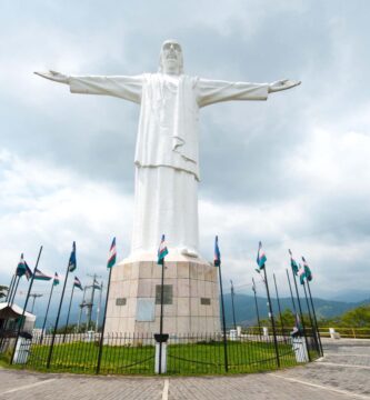
<instances>
[{"instance_id":1,"label":"hazy blue mountains behind the flagpoles, right of the pedestal","mask_svg":"<svg viewBox=\"0 0 370 400\"><path fill-rule=\"evenodd\" d=\"M296 300L296 299L294 299ZM279 314L278 301L271 299L273 313ZM323 300L323 299L313 299L313 304L318 319L320 318L332 318L342 314L347 310L353 309L356 307L362 306L367 300L360 302L344 302L344 301L333 301L333 300ZM267 299L258 297L257 303L259 308L260 318L268 317L268 306ZM307 312L306 299L301 299L301 306L303 313ZM281 311L286 309L292 310L292 302L290 298L280 299ZM297 307L297 304L296 304ZM238 323L242 324L256 324L257 314L254 298L247 294L236 294L234 297L234 308L236 308L236 320ZM231 306L231 294L228 293L224 296L224 313L226 321L228 326L232 324L232 306Z\"/></svg>"}]
</instances>

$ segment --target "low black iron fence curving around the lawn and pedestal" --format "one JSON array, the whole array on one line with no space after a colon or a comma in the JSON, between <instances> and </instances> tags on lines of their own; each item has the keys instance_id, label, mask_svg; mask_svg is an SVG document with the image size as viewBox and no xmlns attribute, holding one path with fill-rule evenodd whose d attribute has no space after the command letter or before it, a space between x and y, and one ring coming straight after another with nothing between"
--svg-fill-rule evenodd
<instances>
[{"instance_id":1,"label":"low black iron fence curving around the lawn and pedestal","mask_svg":"<svg viewBox=\"0 0 370 400\"><path fill-rule=\"evenodd\" d=\"M224 373L227 370L231 373L257 372L296 366L320 356L312 333L307 338L279 334L278 348L273 337L264 333L256 333L253 330L230 331L226 342L222 333L170 334L167 342L167 373L204 374ZM51 338L49 334L20 338L14 363L41 371L154 373L156 341L152 333L106 334L99 367L100 333L57 334L52 353ZM16 342L12 339L11 344L9 340L8 353Z\"/></svg>"}]
</instances>

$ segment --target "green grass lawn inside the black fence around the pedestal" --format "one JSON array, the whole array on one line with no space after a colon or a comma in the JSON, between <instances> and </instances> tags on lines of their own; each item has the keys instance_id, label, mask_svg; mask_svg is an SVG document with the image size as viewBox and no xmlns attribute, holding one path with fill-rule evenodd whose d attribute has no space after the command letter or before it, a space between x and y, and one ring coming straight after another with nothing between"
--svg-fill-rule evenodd
<instances>
[{"instance_id":1,"label":"green grass lawn inside the black fence around the pedestal","mask_svg":"<svg viewBox=\"0 0 370 400\"><path fill-rule=\"evenodd\" d=\"M47 370L49 346L33 344L26 368ZM104 346L100 373L153 374L154 346ZM94 342L57 344L50 371L96 373L99 346ZM296 366L290 344L279 343L280 367ZM228 342L228 372L258 372L277 369L273 343ZM223 342L168 346L168 374L224 373Z\"/></svg>"}]
</instances>

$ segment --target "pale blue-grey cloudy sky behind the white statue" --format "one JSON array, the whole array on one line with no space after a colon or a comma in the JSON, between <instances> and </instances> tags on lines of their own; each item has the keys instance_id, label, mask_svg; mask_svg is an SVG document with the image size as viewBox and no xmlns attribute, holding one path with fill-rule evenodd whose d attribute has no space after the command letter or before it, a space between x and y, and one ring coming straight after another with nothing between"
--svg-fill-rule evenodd
<instances>
[{"instance_id":1,"label":"pale blue-grey cloudy sky behind the white statue","mask_svg":"<svg viewBox=\"0 0 370 400\"><path fill-rule=\"evenodd\" d=\"M139 108L32 71L156 71L176 38L189 74L302 81L201 110L202 256L219 234L226 282L250 293L262 240L282 294L291 248L314 294L369 297L369 12L366 0L1 0L0 283L41 244L40 269L62 274L76 240L81 281L106 280L113 236L120 258L130 247Z\"/></svg>"}]
</instances>

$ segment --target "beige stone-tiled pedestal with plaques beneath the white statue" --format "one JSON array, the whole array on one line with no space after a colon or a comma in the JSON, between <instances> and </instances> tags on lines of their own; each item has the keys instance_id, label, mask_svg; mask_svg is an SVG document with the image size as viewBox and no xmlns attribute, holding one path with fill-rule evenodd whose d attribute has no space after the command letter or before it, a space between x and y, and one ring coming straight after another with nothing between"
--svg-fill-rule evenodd
<instances>
[{"instance_id":1,"label":"beige stone-tiled pedestal with plaques beneath the white statue","mask_svg":"<svg viewBox=\"0 0 370 400\"><path fill-rule=\"evenodd\" d=\"M113 267L106 332L158 333L161 266L124 260ZM163 331L220 331L218 269L202 260L166 261ZM157 293L157 299L156 299Z\"/></svg>"}]
</instances>

